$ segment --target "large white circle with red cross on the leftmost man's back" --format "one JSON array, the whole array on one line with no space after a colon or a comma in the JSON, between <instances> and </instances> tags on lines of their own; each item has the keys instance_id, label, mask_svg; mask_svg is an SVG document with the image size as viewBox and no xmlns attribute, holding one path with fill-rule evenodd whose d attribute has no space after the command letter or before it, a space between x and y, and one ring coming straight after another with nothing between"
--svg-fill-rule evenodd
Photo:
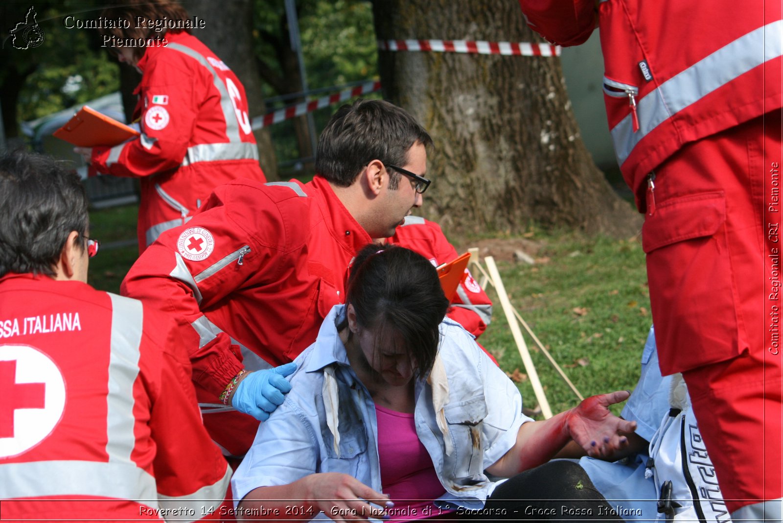
<instances>
[{"instance_id":1,"label":"large white circle with red cross on the leftmost man's back","mask_svg":"<svg viewBox=\"0 0 783 523\"><path fill-rule=\"evenodd\" d=\"M60 422L65 382L55 362L27 345L0 353L0 457L38 445Z\"/></svg>"}]
</instances>

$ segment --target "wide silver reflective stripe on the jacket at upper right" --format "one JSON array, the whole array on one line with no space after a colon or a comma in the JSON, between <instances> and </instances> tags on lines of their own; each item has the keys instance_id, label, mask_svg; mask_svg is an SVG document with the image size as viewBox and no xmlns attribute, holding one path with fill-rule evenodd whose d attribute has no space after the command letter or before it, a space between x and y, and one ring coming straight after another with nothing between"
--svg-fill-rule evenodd
<instances>
[{"instance_id":1,"label":"wide silver reflective stripe on the jacket at upper right","mask_svg":"<svg viewBox=\"0 0 783 523\"><path fill-rule=\"evenodd\" d=\"M724 45L639 99L639 130L633 132L631 114L612 129L618 163L622 165L646 135L680 110L752 68L781 56L781 45L783 20L768 23Z\"/></svg>"}]
</instances>

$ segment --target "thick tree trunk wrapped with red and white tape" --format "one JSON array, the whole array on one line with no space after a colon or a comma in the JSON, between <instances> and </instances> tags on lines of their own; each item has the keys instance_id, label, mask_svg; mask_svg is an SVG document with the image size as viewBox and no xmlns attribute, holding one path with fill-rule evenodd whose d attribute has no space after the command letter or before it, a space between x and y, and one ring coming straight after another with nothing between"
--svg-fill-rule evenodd
<instances>
[{"instance_id":1,"label":"thick tree trunk wrapped with red and white tape","mask_svg":"<svg viewBox=\"0 0 783 523\"><path fill-rule=\"evenodd\" d=\"M376 0L377 38L542 41L515 0ZM386 96L431 133L424 215L446 229L519 232L531 220L636 233L579 137L560 60L380 52ZM598 101L596 101L598 103Z\"/></svg>"}]
</instances>

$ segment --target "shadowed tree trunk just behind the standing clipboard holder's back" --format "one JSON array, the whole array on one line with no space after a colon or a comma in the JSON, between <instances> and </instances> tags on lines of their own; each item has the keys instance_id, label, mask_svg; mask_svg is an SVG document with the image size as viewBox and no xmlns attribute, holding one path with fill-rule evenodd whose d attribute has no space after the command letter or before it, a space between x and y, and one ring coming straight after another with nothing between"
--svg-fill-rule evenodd
<instances>
[{"instance_id":1,"label":"shadowed tree trunk just behind the standing clipboard holder's back","mask_svg":"<svg viewBox=\"0 0 783 523\"><path fill-rule=\"evenodd\" d=\"M199 16L206 25L204 29L193 29L193 35L231 67L240 79L247 93L250 116L264 113L264 98L261 92L261 75L253 60L253 27L251 23L252 2L232 0L191 0L183 4L190 16ZM275 150L269 129L254 132L258 142L258 158L264 175L269 181L278 179Z\"/></svg>"}]
</instances>

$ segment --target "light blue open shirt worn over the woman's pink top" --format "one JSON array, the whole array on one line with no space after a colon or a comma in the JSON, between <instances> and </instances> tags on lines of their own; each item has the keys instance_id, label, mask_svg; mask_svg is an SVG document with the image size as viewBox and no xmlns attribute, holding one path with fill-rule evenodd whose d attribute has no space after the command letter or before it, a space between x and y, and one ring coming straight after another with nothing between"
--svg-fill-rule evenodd
<instances>
[{"instance_id":1,"label":"light blue open shirt worn over the woman's pink top","mask_svg":"<svg viewBox=\"0 0 783 523\"><path fill-rule=\"evenodd\" d=\"M344 316L345 305L335 305L316 343L295 360L292 390L258 427L250 451L233 475L236 499L261 486L287 485L319 472L349 474L382 492L375 405L351 369L337 334L336 326ZM417 380L416 431L446 489L436 500L438 507L455 503L481 508L496 486L484 474L485 468L514 446L519 427L531 419L521 413L517 387L471 334L448 318L441 323L440 334L438 357L445 370L440 375L447 379L448 399L436 412L430 383L430 377L438 374L435 370ZM327 423L333 419L334 425L329 405L334 405L335 386L339 408L332 412L337 413L337 431ZM443 390L437 384L436 388ZM446 431L438 426L438 416ZM478 436L480 445L472 445L471 436Z\"/></svg>"}]
</instances>

